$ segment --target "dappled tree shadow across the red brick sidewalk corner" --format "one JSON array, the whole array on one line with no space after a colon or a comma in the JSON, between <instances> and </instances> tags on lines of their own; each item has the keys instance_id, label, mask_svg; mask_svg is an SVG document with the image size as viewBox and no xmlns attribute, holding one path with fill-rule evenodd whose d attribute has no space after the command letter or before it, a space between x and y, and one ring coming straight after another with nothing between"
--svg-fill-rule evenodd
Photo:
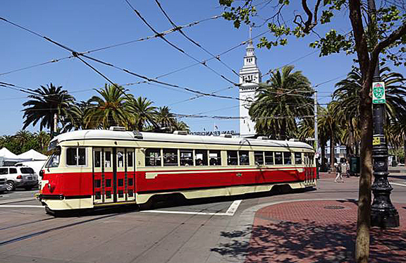
<instances>
[{"instance_id":1,"label":"dappled tree shadow across the red brick sidewalk corner","mask_svg":"<svg viewBox=\"0 0 406 263\"><path fill-rule=\"evenodd\" d=\"M221 243L211 251L224 257L245 257L247 263L354 262L355 223L256 220L258 226L244 231L222 232L221 236L230 238L230 242ZM404 262L405 247L406 231L374 228L371 231L369 262Z\"/></svg>"}]
</instances>

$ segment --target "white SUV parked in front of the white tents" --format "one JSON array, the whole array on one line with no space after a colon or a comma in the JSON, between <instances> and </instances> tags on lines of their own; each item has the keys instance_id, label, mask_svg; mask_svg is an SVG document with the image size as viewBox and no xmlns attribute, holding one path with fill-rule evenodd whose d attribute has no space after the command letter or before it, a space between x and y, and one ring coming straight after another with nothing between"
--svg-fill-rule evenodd
<instances>
[{"instance_id":1,"label":"white SUV parked in front of the white tents","mask_svg":"<svg viewBox=\"0 0 406 263\"><path fill-rule=\"evenodd\" d=\"M13 191L16 188L31 190L38 185L38 176L28 166L3 166L0 167L0 176L6 177L6 190Z\"/></svg>"}]
</instances>

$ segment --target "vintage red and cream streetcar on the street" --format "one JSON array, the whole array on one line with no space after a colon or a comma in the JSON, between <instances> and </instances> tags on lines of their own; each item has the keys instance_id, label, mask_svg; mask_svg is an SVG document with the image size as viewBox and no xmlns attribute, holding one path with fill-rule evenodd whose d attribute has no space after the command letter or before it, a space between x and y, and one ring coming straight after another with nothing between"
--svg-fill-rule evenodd
<instances>
[{"instance_id":1,"label":"vintage red and cream streetcar on the street","mask_svg":"<svg viewBox=\"0 0 406 263\"><path fill-rule=\"evenodd\" d=\"M59 212L316 186L310 145L266 139L120 127L63 133L49 143L39 200L47 212Z\"/></svg>"}]
</instances>

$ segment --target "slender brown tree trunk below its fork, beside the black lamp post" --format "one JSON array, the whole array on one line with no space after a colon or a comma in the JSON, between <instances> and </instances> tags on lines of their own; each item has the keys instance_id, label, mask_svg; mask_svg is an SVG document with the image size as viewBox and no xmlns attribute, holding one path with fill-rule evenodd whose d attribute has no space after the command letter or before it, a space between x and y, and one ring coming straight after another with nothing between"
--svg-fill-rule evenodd
<instances>
[{"instance_id":1,"label":"slender brown tree trunk below its fork, beside the black lamp post","mask_svg":"<svg viewBox=\"0 0 406 263\"><path fill-rule=\"evenodd\" d=\"M369 85L368 81L364 82ZM367 89L364 89L367 90ZM367 90L368 91L368 90ZM359 176L357 239L355 262L368 262L369 230L371 228L371 175L372 175L372 107L369 94L361 94L359 119L361 121L361 174Z\"/></svg>"}]
</instances>

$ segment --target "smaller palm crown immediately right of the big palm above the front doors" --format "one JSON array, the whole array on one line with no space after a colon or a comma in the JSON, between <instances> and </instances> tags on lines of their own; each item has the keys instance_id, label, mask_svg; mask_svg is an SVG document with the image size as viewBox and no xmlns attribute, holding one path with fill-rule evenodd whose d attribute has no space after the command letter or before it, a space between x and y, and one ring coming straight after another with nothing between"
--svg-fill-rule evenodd
<instances>
[{"instance_id":1,"label":"smaller palm crown immediately right of the big palm above the front doors","mask_svg":"<svg viewBox=\"0 0 406 263\"><path fill-rule=\"evenodd\" d=\"M126 109L132 118L130 123L135 130L142 131L147 125L152 125L154 128L159 128L156 121L154 121L156 115L156 107L152 106L152 101L147 98L138 97L137 99L131 99L126 104Z\"/></svg>"}]
</instances>

